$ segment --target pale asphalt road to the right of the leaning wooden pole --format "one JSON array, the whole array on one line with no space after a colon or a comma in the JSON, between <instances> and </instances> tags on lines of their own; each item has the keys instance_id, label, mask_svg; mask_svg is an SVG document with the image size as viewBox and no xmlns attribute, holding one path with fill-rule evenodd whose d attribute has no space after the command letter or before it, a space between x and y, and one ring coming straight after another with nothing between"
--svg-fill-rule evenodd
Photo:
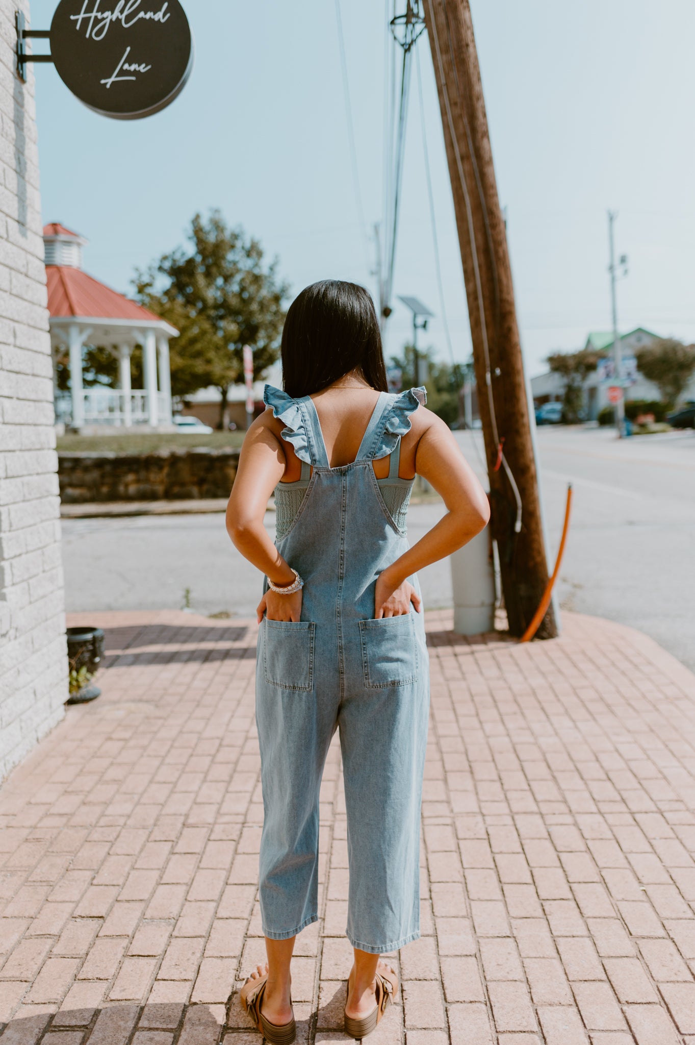
<instances>
[{"instance_id":1,"label":"pale asphalt road to the right of the leaning wooden pole","mask_svg":"<svg viewBox=\"0 0 695 1045\"><path fill-rule=\"evenodd\" d=\"M553 556L573 484L560 607L639 628L695 670L695 433L542 427L538 457Z\"/></svg>"}]
</instances>

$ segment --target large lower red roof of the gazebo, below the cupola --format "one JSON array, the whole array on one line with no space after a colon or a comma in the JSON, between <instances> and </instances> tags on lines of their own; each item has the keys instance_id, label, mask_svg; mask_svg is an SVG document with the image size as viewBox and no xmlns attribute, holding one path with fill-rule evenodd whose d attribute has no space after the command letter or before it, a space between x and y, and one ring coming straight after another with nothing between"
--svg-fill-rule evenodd
<instances>
[{"instance_id":1,"label":"large lower red roof of the gazebo, below the cupola","mask_svg":"<svg viewBox=\"0 0 695 1045\"><path fill-rule=\"evenodd\" d=\"M112 291L81 269L46 265L48 311L52 319L88 316L91 319L162 322L149 309Z\"/></svg>"}]
</instances>

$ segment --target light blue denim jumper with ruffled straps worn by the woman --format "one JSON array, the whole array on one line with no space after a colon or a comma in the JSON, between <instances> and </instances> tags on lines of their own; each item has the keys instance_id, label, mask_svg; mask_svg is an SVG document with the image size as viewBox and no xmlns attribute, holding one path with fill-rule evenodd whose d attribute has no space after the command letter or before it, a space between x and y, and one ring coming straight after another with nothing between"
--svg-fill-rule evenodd
<instances>
[{"instance_id":1,"label":"light blue denim jumper with ruffled straps worn by the woman","mask_svg":"<svg viewBox=\"0 0 695 1045\"><path fill-rule=\"evenodd\" d=\"M352 464L331 468L313 401L266 386L302 461L275 487L278 550L304 578L302 620L259 629L256 720L265 821L263 932L287 939L318 918L318 792L340 732L350 891L346 934L373 954L420 936L420 813L429 713L422 613L374 620L375 584L408 548L412 481L401 437L424 389L382 392ZM373 461L390 455L377 480ZM416 577L410 583L420 593ZM267 586L267 585L266 585Z\"/></svg>"}]
</instances>

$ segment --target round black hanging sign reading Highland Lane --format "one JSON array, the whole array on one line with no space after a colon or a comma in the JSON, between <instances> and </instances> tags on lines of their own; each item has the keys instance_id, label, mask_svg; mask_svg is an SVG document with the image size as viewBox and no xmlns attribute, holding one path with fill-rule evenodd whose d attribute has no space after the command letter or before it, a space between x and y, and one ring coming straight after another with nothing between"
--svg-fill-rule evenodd
<instances>
[{"instance_id":1,"label":"round black hanging sign reading Highland Lane","mask_svg":"<svg viewBox=\"0 0 695 1045\"><path fill-rule=\"evenodd\" d=\"M51 55L86 106L135 120L182 91L193 68L193 38L178 0L61 0Z\"/></svg>"}]
</instances>

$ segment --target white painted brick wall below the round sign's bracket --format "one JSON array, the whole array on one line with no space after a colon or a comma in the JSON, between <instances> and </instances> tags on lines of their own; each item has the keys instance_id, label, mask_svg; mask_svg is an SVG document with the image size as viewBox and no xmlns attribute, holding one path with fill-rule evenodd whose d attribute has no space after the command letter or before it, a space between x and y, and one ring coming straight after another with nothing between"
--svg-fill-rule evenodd
<instances>
[{"instance_id":1,"label":"white painted brick wall below the round sign's bracket","mask_svg":"<svg viewBox=\"0 0 695 1045\"><path fill-rule=\"evenodd\" d=\"M33 76L0 0L0 779L64 715L67 652Z\"/></svg>"}]
</instances>

